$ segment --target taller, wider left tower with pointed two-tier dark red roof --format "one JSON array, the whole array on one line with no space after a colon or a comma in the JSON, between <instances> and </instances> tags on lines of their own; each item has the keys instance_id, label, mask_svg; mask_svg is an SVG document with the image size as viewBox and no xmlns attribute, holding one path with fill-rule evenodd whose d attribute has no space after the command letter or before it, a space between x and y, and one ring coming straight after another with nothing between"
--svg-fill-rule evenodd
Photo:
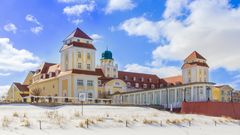
<instances>
[{"instance_id":1,"label":"taller, wider left tower with pointed two-tier dark red roof","mask_svg":"<svg viewBox=\"0 0 240 135\"><path fill-rule=\"evenodd\" d=\"M96 48L92 39L77 28L63 40L61 53L61 70L72 69L95 71Z\"/></svg>"}]
</instances>

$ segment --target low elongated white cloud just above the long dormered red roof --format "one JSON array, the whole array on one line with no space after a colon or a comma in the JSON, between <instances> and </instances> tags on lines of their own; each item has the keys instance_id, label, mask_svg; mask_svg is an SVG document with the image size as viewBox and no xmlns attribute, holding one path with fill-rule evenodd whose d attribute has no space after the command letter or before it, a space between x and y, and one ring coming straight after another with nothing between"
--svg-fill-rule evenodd
<instances>
[{"instance_id":1,"label":"low elongated white cloud just above the long dormered red roof","mask_svg":"<svg viewBox=\"0 0 240 135\"><path fill-rule=\"evenodd\" d=\"M174 66L147 67L139 64L127 64L125 71L156 74L159 77L176 76L181 74L181 70Z\"/></svg>"}]
</instances>

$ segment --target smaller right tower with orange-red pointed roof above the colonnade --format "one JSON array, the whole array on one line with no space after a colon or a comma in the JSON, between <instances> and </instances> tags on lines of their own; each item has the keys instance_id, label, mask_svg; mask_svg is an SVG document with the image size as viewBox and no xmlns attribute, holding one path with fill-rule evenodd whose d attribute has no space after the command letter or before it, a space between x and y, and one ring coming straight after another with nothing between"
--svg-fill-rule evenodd
<instances>
[{"instance_id":1,"label":"smaller right tower with orange-red pointed roof above the colonnade","mask_svg":"<svg viewBox=\"0 0 240 135\"><path fill-rule=\"evenodd\" d=\"M206 59L197 51L192 52L182 65L183 83L208 82L208 69Z\"/></svg>"}]
</instances>

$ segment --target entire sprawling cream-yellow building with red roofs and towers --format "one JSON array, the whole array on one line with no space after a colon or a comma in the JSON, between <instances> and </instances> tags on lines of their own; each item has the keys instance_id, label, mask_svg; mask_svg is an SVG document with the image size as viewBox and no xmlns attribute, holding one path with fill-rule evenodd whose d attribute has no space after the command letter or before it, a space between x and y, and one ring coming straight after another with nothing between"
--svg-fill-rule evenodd
<instances>
[{"instance_id":1,"label":"entire sprawling cream-yellow building with red roofs and towers","mask_svg":"<svg viewBox=\"0 0 240 135\"><path fill-rule=\"evenodd\" d=\"M168 78L119 71L110 50L102 53L99 66L96 61L93 39L77 28L64 39L60 62L44 62L22 84L14 82L6 100L78 102L79 94L85 93L89 102L111 99L115 104L179 107L184 100L214 99L207 60L196 51L184 60L182 75Z\"/></svg>"}]
</instances>

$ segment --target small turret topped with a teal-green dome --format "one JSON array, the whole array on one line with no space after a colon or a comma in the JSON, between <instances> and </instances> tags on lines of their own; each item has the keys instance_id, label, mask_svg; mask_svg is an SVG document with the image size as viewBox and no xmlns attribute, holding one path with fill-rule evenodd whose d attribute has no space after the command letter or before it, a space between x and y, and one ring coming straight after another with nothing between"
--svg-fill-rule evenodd
<instances>
[{"instance_id":1,"label":"small turret topped with a teal-green dome","mask_svg":"<svg viewBox=\"0 0 240 135\"><path fill-rule=\"evenodd\" d=\"M100 59L100 68L102 69L104 75L109 78L118 78L118 66L114 64L114 59L112 58L112 52L108 49L102 53L102 58Z\"/></svg>"}]
</instances>

